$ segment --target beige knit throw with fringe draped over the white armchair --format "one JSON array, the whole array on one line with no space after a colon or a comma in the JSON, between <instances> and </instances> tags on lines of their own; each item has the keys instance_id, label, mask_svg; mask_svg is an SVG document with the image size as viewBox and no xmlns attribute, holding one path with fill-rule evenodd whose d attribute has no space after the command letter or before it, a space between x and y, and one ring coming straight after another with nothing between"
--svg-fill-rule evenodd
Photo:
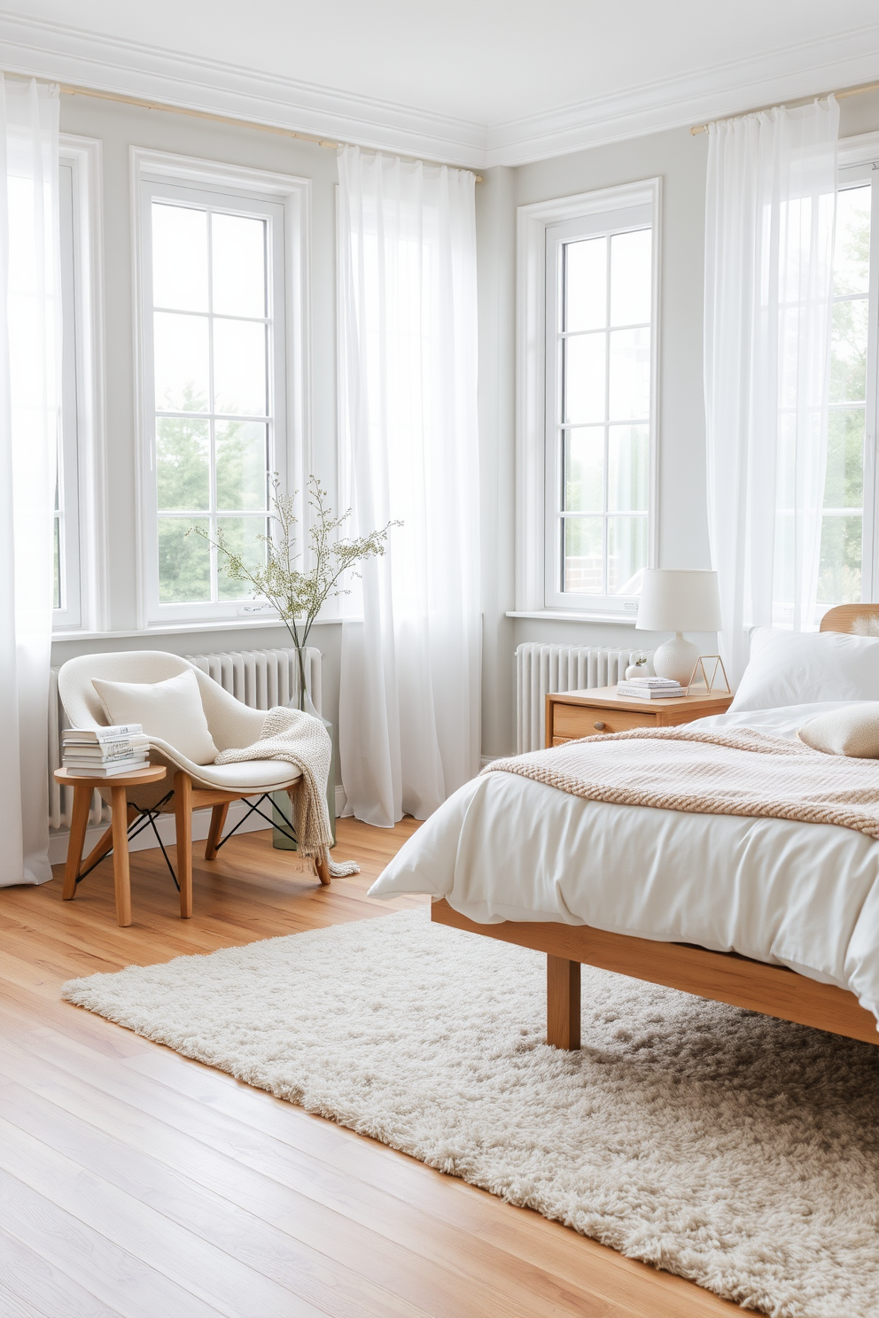
<instances>
[{"instance_id":1,"label":"beige knit throw with fringe draped over the white armchair","mask_svg":"<svg viewBox=\"0 0 879 1318\"><path fill-rule=\"evenodd\" d=\"M265 717L260 741L240 750L224 750L215 764L239 764L245 759L281 759L295 764L302 780L287 788L293 805L297 844L303 855L323 857L333 878L360 874L353 861L335 865L329 859L329 815L327 812L327 779L332 763L329 733L312 714L302 709L275 705Z\"/></svg>"}]
</instances>

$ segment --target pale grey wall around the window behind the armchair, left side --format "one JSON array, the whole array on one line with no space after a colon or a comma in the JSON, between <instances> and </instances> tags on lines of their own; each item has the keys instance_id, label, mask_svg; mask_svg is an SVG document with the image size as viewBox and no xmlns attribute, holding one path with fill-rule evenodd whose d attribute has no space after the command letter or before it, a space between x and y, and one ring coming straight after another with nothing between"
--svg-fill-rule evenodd
<instances>
[{"instance_id":1,"label":"pale grey wall around the window behind the armchair, left side","mask_svg":"<svg viewBox=\"0 0 879 1318\"><path fill-rule=\"evenodd\" d=\"M103 144L104 336L109 486L109 626L136 625L134 540L134 349L132 326L132 217L129 146L145 146L312 181L311 237L311 430L314 472L336 489L336 283L335 152L258 129L188 115L141 109L90 96L65 95L61 130ZM318 626L311 645L324 654L324 713L337 722L340 626ZM58 641L53 664L96 650L170 650L174 654L289 646L283 627L246 623L212 631L108 635Z\"/></svg>"}]
</instances>

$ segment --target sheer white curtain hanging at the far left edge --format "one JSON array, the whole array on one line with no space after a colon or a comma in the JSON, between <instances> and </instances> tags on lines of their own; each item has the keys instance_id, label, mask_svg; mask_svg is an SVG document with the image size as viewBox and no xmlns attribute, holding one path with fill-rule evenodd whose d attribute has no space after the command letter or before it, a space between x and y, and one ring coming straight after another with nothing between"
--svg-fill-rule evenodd
<instances>
[{"instance_id":1,"label":"sheer white curtain hanging at the far left edge","mask_svg":"<svg viewBox=\"0 0 879 1318\"><path fill-rule=\"evenodd\" d=\"M58 104L55 87L0 79L0 886L51 878Z\"/></svg>"}]
</instances>

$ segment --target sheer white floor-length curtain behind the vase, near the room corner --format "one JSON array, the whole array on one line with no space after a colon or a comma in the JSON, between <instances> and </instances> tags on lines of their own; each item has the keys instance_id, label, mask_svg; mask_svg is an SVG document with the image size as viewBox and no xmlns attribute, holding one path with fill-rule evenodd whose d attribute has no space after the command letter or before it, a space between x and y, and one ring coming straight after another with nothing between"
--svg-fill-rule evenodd
<instances>
[{"instance_id":1,"label":"sheer white floor-length curtain behind the vase, near the room corner","mask_svg":"<svg viewBox=\"0 0 879 1318\"><path fill-rule=\"evenodd\" d=\"M426 818L478 771L474 178L339 157L343 506L385 558L345 600L339 749L348 809Z\"/></svg>"}]
</instances>

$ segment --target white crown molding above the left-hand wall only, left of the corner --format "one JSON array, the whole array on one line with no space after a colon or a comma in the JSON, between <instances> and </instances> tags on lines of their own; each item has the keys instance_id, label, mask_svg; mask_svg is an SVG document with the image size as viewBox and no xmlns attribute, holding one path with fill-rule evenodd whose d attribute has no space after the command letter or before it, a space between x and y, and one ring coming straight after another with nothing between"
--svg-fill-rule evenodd
<instances>
[{"instance_id":1,"label":"white crown molding above the left-hand wall only, left of the corner","mask_svg":"<svg viewBox=\"0 0 879 1318\"><path fill-rule=\"evenodd\" d=\"M485 127L0 11L0 66L376 150L478 167Z\"/></svg>"}]
</instances>

